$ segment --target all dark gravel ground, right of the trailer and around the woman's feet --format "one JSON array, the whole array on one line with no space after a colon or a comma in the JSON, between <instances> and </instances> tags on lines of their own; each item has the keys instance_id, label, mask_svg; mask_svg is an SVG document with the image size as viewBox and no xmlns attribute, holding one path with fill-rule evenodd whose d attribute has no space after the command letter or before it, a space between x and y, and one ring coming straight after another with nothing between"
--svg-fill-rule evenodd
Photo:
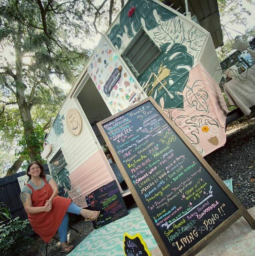
<instances>
[{"instance_id":1,"label":"all dark gravel ground, right of the trailer and around the woman's feet","mask_svg":"<svg viewBox=\"0 0 255 256\"><path fill-rule=\"evenodd\" d=\"M211 165L221 179L233 179L233 193L240 202L249 209L255 206L255 113L248 119L241 118L227 127L227 142L224 147L217 149L205 160ZM135 207L135 203L129 197L128 209ZM76 233L71 230L68 234L69 243L77 246L87 235L93 231L91 222L85 222L77 217L71 222L71 226L81 231ZM24 256L45 255L46 245L39 237L28 248ZM48 255L59 256L60 243L51 240L48 244Z\"/></svg>"}]
</instances>

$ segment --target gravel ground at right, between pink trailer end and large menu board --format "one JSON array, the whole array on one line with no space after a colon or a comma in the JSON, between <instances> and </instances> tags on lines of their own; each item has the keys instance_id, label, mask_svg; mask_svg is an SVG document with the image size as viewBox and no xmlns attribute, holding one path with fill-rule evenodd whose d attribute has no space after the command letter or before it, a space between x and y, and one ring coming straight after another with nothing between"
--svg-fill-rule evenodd
<instances>
[{"instance_id":1,"label":"gravel ground at right, between pink trailer end and large menu board","mask_svg":"<svg viewBox=\"0 0 255 256\"><path fill-rule=\"evenodd\" d=\"M227 127L227 142L205 156L222 180L232 178L233 193L246 209L255 206L255 113Z\"/></svg>"}]
</instances>

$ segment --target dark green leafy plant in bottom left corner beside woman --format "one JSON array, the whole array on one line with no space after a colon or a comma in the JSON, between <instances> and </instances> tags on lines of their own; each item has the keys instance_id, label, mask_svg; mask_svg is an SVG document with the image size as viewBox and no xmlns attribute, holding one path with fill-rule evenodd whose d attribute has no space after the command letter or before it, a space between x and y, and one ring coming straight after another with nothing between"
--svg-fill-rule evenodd
<instances>
[{"instance_id":1,"label":"dark green leafy plant in bottom left corner beside woman","mask_svg":"<svg viewBox=\"0 0 255 256\"><path fill-rule=\"evenodd\" d=\"M31 244L28 237L32 229L29 220L12 218L8 208L0 203L0 219L7 221L0 223L0 255L21 255Z\"/></svg>"}]
</instances>

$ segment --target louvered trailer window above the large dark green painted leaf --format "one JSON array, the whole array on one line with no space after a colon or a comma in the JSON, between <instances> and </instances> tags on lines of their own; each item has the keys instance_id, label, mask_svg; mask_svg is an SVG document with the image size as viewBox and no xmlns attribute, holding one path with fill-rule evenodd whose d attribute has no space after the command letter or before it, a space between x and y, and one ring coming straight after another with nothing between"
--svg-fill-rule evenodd
<instances>
[{"instance_id":1,"label":"louvered trailer window above the large dark green painted leaf","mask_svg":"<svg viewBox=\"0 0 255 256\"><path fill-rule=\"evenodd\" d=\"M159 53L160 49L145 31L140 29L122 53L122 58L137 78Z\"/></svg>"}]
</instances>

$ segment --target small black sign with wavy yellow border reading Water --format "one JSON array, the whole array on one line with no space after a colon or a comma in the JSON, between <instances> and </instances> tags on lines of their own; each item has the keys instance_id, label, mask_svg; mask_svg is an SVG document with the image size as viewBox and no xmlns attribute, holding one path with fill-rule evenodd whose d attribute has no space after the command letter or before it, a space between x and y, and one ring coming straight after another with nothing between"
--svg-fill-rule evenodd
<instances>
[{"instance_id":1,"label":"small black sign with wavy yellow border reading Water","mask_svg":"<svg viewBox=\"0 0 255 256\"><path fill-rule=\"evenodd\" d=\"M124 233L123 250L125 256L151 256L146 243L138 233L134 236Z\"/></svg>"}]
</instances>

